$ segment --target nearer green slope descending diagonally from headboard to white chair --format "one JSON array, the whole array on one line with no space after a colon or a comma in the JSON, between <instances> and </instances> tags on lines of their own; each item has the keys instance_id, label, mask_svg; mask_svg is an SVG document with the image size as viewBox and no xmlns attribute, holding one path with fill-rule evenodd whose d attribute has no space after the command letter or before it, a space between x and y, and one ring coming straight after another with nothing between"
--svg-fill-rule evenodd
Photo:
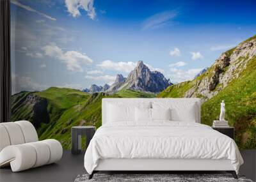
<instances>
[{"instance_id":1,"label":"nearer green slope descending diagonally from headboard to white chair","mask_svg":"<svg viewBox=\"0 0 256 182\"><path fill-rule=\"evenodd\" d=\"M81 93L79 91L79 93ZM83 93L81 93L83 95ZM94 93L85 100L65 110L60 118L46 125L46 130L41 133L40 139L60 140L63 148L71 148L70 128L77 125L93 125L97 128L101 126L101 103L102 98L137 98L153 97L154 95L140 91L122 90L115 95L106 95L105 93ZM67 97L67 95L65 95ZM68 98L66 98L68 99Z\"/></svg>"}]
</instances>

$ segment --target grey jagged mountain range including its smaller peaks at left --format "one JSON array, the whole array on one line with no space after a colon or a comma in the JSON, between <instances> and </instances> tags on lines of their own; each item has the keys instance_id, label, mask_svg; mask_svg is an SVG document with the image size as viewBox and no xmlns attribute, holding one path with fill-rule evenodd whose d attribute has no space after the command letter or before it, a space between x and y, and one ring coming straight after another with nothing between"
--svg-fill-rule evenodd
<instances>
[{"instance_id":1,"label":"grey jagged mountain range including its smaller peaks at left","mask_svg":"<svg viewBox=\"0 0 256 182\"><path fill-rule=\"evenodd\" d=\"M116 75L115 82L111 86L106 84L106 87L102 87L92 84L89 89L83 89L83 91L90 93L115 93L116 91L120 91L122 89L133 89L138 91L159 93L171 85L172 82L170 82L170 79L166 79L162 73L157 71L151 72L143 61L138 61L136 67L131 73L129 73L127 78L125 78L122 74L118 74Z\"/></svg>"}]
</instances>

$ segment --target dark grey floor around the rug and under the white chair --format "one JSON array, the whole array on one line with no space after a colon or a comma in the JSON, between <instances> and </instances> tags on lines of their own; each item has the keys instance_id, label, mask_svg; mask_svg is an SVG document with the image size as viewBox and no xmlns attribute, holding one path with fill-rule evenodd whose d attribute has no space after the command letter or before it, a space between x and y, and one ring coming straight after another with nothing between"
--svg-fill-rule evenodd
<instances>
[{"instance_id":1,"label":"dark grey floor around the rug and under the white chair","mask_svg":"<svg viewBox=\"0 0 256 182\"><path fill-rule=\"evenodd\" d=\"M256 150L241 150L244 164L239 174L256 180ZM60 162L22 172L12 172L10 167L0 169L0 181L74 181L78 174L86 173L84 169L84 153L71 155L64 151ZM200 173L200 172L198 172Z\"/></svg>"}]
</instances>

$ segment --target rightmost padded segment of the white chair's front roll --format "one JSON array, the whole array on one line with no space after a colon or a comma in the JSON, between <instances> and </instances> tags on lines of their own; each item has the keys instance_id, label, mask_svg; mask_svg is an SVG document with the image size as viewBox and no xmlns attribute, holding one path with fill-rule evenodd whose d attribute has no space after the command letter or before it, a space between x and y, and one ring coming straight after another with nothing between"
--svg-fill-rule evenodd
<instances>
[{"instance_id":1,"label":"rightmost padded segment of the white chair's front roll","mask_svg":"<svg viewBox=\"0 0 256 182\"><path fill-rule=\"evenodd\" d=\"M49 146L51 154L50 154L50 160L48 163L53 163L61 159L63 149L62 149L61 143L58 140L47 139L47 140L42 140L40 142L44 142L45 144L47 144L47 146Z\"/></svg>"}]
</instances>

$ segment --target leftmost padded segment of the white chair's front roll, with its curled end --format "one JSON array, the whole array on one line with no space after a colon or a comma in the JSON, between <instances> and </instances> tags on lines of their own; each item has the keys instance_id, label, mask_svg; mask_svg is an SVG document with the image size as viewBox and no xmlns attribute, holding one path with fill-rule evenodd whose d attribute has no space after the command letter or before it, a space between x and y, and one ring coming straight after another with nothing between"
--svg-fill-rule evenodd
<instances>
[{"instance_id":1,"label":"leftmost padded segment of the white chair's front roll, with its curled end","mask_svg":"<svg viewBox=\"0 0 256 182\"><path fill-rule=\"evenodd\" d=\"M13 172L29 169L36 163L35 148L28 144L7 146L1 151L0 156L2 162L10 162Z\"/></svg>"}]
</instances>

